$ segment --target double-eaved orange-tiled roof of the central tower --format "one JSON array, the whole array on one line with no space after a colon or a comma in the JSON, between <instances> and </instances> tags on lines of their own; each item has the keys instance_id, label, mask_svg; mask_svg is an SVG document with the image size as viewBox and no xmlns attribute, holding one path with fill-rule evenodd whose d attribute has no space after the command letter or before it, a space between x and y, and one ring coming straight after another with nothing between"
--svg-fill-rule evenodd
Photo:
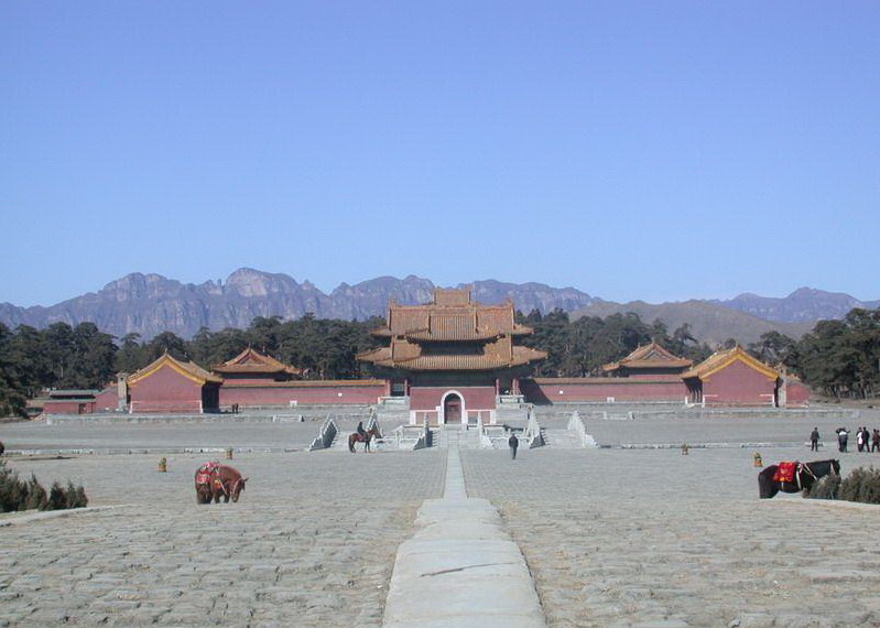
<instances>
[{"instance_id":1,"label":"double-eaved orange-tiled roof of the central tower","mask_svg":"<svg viewBox=\"0 0 880 628\"><path fill-rule=\"evenodd\" d=\"M522 366L546 357L544 351L513 344L532 329L514 320L513 302L476 303L471 289L434 290L424 305L391 302L388 322L373 332L390 338L388 347L366 351L358 359L405 370L493 370ZM437 350L442 344L443 350ZM455 347L459 347L456 350Z\"/></svg>"}]
</instances>

